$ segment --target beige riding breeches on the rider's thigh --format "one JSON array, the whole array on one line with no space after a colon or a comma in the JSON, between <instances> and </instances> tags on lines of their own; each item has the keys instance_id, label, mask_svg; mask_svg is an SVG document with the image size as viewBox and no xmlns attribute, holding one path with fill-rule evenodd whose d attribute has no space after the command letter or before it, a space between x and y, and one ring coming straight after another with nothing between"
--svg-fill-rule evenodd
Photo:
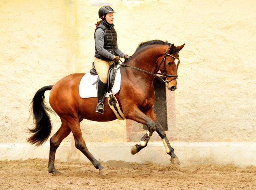
<instances>
[{"instance_id":1,"label":"beige riding breeches on the rider's thigh","mask_svg":"<svg viewBox=\"0 0 256 190\"><path fill-rule=\"evenodd\" d=\"M100 77L101 82L107 83L108 80L108 69L114 63L114 61L106 61L99 58L95 58L94 66Z\"/></svg>"}]
</instances>

